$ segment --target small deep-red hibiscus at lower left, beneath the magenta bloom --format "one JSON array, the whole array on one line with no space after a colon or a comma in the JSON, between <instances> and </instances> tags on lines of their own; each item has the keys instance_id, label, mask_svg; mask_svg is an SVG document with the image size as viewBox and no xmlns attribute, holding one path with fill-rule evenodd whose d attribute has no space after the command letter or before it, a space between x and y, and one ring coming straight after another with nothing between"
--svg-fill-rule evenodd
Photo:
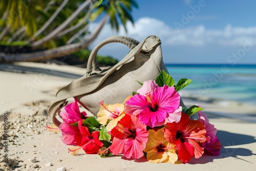
<instances>
[{"instance_id":1,"label":"small deep-red hibiscus at lower left, beneath the magenta bloom","mask_svg":"<svg viewBox=\"0 0 256 171\"><path fill-rule=\"evenodd\" d=\"M103 146L103 143L99 141L99 131L94 131L91 134L88 127L82 125L82 121L78 121L78 128L81 134L76 134L74 137L79 147L71 148L69 152L76 154L75 151L79 151L82 148L86 154L97 154L99 148Z\"/></svg>"}]
</instances>

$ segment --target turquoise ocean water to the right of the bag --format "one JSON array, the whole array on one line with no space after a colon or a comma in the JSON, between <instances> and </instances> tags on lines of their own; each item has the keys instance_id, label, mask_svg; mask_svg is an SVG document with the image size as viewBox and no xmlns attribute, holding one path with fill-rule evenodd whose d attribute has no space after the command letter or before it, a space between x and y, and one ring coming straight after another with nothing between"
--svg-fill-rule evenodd
<instances>
[{"instance_id":1,"label":"turquoise ocean water to the right of the bag","mask_svg":"<svg viewBox=\"0 0 256 171\"><path fill-rule=\"evenodd\" d=\"M184 88L197 97L256 104L256 65L166 65L177 82L193 81Z\"/></svg>"}]
</instances>

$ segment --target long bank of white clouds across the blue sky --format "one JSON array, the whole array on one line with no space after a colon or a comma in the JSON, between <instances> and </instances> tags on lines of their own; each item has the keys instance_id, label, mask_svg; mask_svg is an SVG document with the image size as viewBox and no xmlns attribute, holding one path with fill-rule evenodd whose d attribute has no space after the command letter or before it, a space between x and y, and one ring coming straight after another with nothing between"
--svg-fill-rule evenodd
<instances>
[{"instance_id":1,"label":"long bank of white clouds across the blue sky","mask_svg":"<svg viewBox=\"0 0 256 171\"><path fill-rule=\"evenodd\" d=\"M91 27L93 30L96 27L94 24ZM177 31L176 28L167 26L162 20L142 17L135 22L134 26L127 23L128 33L125 33L120 26L119 33L112 30L110 25L104 26L101 33L94 42L94 46L103 39L114 35L126 35L133 37L139 41L149 35L158 35L162 44L172 46L206 46L206 45L221 45L221 46L241 46L245 39L256 39L256 27L232 27L227 25L223 29L206 29L203 25L197 27L184 27Z\"/></svg>"}]
</instances>

